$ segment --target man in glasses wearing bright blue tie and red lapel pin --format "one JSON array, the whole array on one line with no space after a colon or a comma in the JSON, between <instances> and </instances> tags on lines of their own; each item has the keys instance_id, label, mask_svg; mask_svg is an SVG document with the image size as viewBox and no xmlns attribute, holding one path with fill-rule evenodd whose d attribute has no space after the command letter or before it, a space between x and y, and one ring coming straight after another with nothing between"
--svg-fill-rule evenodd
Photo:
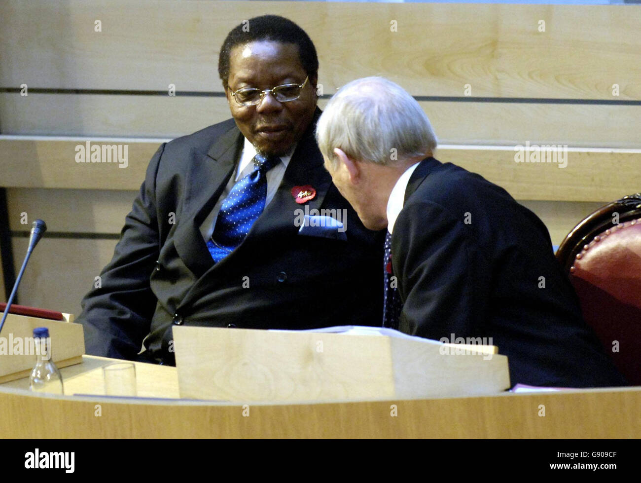
<instances>
[{"instance_id":1,"label":"man in glasses wearing bright blue tie and red lapel pin","mask_svg":"<svg viewBox=\"0 0 641 483\"><path fill-rule=\"evenodd\" d=\"M152 158L83 300L87 353L174 364L174 325L379 324L384 233L363 227L324 169L317 71L312 41L283 17L229 32L219 74L233 119ZM333 221L297 223L303 209Z\"/></svg>"}]
</instances>

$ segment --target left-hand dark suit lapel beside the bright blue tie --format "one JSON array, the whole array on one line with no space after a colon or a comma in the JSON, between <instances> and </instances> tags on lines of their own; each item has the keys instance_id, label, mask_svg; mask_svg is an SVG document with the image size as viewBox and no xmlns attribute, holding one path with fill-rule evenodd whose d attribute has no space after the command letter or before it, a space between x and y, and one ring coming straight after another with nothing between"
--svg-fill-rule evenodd
<instances>
[{"instance_id":1,"label":"left-hand dark suit lapel beside the bright blue tie","mask_svg":"<svg viewBox=\"0 0 641 483\"><path fill-rule=\"evenodd\" d=\"M233 173L243 137L234 125L209 151L192 151L192 169L185 182L185 219L176 226L174 246L179 257L194 274L202 276L213 266L200 226L212 211ZM218 184L213 184L217 182Z\"/></svg>"}]
</instances>

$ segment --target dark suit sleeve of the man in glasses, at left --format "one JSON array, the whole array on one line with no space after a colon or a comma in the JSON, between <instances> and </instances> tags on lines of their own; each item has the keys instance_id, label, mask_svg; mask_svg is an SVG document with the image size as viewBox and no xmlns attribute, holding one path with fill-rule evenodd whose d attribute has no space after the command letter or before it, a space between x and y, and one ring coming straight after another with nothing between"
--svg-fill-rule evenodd
<instances>
[{"instance_id":1,"label":"dark suit sleeve of the man in glasses, at left","mask_svg":"<svg viewBox=\"0 0 641 483\"><path fill-rule=\"evenodd\" d=\"M149 334L156 309L149 276L160 250L155 185L164 148L151 158L111 262L83 298L78 322L85 328L88 354L133 360Z\"/></svg>"}]
</instances>

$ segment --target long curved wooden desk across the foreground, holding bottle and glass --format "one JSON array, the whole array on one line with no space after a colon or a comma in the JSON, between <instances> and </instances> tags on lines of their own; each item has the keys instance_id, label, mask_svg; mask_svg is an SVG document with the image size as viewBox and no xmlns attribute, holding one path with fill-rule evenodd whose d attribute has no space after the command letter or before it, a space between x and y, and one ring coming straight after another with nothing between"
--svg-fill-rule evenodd
<instances>
[{"instance_id":1,"label":"long curved wooden desk across the foreground, holding bottle and glass","mask_svg":"<svg viewBox=\"0 0 641 483\"><path fill-rule=\"evenodd\" d=\"M100 368L111 361L85 355L82 364L62 369L65 396L30 393L27 379L0 385L0 435L6 438L641 437L641 387L244 406L175 399L176 368L137 363L138 394L170 399L68 395L101 393ZM390 415L392 405L397 416ZM541 405L545 407L545 416L539 416ZM44 419L46 425L42 423Z\"/></svg>"}]
</instances>

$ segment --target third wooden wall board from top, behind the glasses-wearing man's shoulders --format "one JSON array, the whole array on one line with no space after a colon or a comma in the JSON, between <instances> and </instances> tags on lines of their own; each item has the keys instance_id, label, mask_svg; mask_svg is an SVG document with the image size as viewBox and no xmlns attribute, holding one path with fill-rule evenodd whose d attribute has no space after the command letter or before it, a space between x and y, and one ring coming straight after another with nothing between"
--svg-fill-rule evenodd
<instances>
[{"instance_id":1,"label":"third wooden wall board from top, behind the glasses-wearing man's shoulders","mask_svg":"<svg viewBox=\"0 0 641 483\"><path fill-rule=\"evenodd\" d=\"M88 139L102 143L101 140ZM117 163L78 163L75 146L85 139L0 139L6 187L137 190L157 142L104 140L128 146L127 167ZM612 201L638 191L641 149L568 149L567 166L515 162L515 151L501 146L440 146L436 157L485 176L516 199ZM122 164L124 165L124 164Z\"/></svg>"}]
</instances>

